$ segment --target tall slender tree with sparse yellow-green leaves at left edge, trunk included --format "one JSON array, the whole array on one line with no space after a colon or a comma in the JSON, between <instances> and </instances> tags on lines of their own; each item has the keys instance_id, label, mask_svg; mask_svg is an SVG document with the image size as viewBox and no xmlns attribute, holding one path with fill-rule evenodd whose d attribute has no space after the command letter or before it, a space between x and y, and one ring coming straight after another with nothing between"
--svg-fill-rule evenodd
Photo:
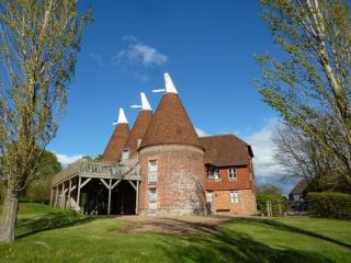
<instances>
[{"instance_id":1,"label":"tall slender tree with sparse yellow-green leaves at left edge, trunk included","mask_svg":"<svg viewBox=\"0 0 351 263\"><path fill-rule=\"evenodd\" d=\"M56 136L89 21L90 12L78 14L76 0L0 0L0 241L14 240L19 195Z\"/></svg>"}]
</instances>

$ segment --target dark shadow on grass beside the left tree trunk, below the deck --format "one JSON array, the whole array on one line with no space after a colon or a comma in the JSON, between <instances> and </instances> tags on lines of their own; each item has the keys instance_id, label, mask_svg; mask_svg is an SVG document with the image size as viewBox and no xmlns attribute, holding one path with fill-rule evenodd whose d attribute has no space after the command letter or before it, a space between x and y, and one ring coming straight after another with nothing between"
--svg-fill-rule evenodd
<instances>
[{"instance_id":1,"label":"dark shadow on grass beside the left tree trunk, below the deck","mask_svg":"<svg viewBox=\"0 0 351 263\"><path fill-rule=\"evenodd\" d=\"M18 225L20 233L16 236L16 239L25 238L42 231L91 222L98 218L101 217L86 217L75 213L48 213L36 219L20 219Z\"/></svg>"}]
</instances>

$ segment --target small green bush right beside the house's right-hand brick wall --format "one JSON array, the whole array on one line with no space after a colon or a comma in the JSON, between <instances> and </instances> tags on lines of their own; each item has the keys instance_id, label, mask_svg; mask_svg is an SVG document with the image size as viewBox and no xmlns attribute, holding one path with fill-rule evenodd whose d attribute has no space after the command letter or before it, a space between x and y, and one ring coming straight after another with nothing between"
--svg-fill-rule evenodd
<instances>
[{"instance_id":1,"label":"small green bush right beside the house's right-hand brick wall","mask_svg":"<svg viewBox=\"0 0 351 263\"><path fill-rule=\"evenodd\" d=\"M280 213L286 210L286 198L279 194L264 194L258 193L256 196L257 209L264 215L268 215L267 202L272 204L272 214L273 216L280 216Z\"/></svg>"}]
</instances>

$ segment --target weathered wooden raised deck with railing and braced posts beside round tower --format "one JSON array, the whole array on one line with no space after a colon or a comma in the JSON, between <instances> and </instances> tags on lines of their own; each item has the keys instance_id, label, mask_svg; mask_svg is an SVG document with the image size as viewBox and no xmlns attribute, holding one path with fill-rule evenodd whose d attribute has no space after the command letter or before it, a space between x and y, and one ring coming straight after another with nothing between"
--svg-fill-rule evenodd
<instances>
[{"instance_id":1,"label":"weathered wooden raised deck with railing and braced posts beside round tower","mask_svg":"<svg viewBox=\"0 0 351 263\"><path fill-rule=\"evenodd\" d=\"M83 213L81 193L90 182L99 182L107 191L106 214L111 214L112 192L121 182L127 182L135 190L135 214L138 214L140 169L137 160L115 164L80 159L69 164L53 178L50 205L63 209Z\"/></svg>"}]
</instances>

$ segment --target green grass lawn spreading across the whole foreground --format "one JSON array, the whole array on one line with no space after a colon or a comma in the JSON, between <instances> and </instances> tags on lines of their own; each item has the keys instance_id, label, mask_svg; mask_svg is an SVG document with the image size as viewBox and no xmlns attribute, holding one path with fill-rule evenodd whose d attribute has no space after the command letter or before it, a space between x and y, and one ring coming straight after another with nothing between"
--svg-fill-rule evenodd
<instances>
[{"instance_id":1,"label":"green grass lawn spreading across the whole foreground","mask_svg":"<svg viewBox=\"0 0 351 263\"><path fill-rule=\"evenodd\" d=\"M21 204L18 239L0 244L0 262L351 262L351 221L242 218L205 236L131 232L131 224Z\"/></svg>"}]
</instances>

